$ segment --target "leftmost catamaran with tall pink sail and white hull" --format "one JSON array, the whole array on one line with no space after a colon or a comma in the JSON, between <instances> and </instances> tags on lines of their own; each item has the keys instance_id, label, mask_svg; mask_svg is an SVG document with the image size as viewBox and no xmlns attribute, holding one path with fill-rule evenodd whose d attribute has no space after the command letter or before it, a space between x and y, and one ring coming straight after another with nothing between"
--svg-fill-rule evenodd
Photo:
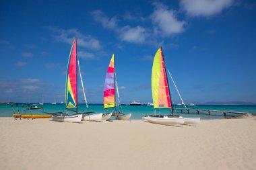
<instances>
[{"instance_id":1,"label":"leftmost catamaran with tall pink sail and white hull","mask_svg":"<svg viewBox=\"0 0 256 170\"><path fill-rule=\"evenodd\" d=\"M49 113L53 120L58 122L81 122L82 114L77 113L77 40L73 41L67 64L67 75L65 85L66 109L74 112L70 115L63 112ZM56 101L55 101L56 103ZM75 109L75 110L73 110Z\"/></svg>"}]
</instances>

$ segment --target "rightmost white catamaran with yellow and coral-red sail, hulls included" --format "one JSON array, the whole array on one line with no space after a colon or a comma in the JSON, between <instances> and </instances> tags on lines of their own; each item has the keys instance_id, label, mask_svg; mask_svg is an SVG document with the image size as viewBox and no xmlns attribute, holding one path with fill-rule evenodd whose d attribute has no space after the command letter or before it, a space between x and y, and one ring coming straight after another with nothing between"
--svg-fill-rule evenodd
<instances>
[{"instance_id":1,"label":"rightmost white catamaran with yellow and coral-red sail, hulls included","mask_svg":"<svg viewBox=\"0 0 256 170\"><path fill-rule=\"evenodd\" d=\"M168 73L170 75L169 71ZM175 83L174 86L176 87ZM170 89L168 85L168 77L166 74L166 66L164 63L164 55L162 54L162 48L158 49L154 57L152 67L152 98L154 103L154 109L160 110L161 108L169 108L171 114L169 116L162 116L160 114L144 116L143 119L147 120L148 122L152 122L154 124L176 125L198 123L200 120L200 118L183 118L182 116L174 115L174 110L172 108L172 101L170 96ZM184 103L182 99L181 101L182 103Z\"/></svg>"}]
</instances>

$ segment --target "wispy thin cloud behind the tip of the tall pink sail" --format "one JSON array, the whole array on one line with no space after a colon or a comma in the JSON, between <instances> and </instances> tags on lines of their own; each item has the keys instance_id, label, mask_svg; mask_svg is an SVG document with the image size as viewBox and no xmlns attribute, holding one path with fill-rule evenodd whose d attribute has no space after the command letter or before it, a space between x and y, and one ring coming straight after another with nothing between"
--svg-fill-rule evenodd
<instances>
[{"instance_id":1,"label":"wispy thin cloud behind the tip of the tall pink sail","mask_svg":"<svg viewBox=\"0 0 256 170\"><path fill-rule=\"evenodd\" d=\"M55 32L55 40L58 42L65 42L67 44L72 44L75 37L77 37L77 46L82 46L90 48L93 50L100 50L102 46L100 41L92 36L85 36L79 32L76 28L64 30L61 28L55 28L52 26L47 27L52 32Z\"/></svg>"}]
</instances>

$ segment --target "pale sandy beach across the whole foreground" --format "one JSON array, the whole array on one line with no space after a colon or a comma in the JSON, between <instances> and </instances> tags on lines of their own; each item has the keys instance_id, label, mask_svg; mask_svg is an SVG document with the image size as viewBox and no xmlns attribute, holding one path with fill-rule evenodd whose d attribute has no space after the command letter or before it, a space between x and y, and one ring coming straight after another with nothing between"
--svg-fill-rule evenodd
<instances>
[{"instance_id":1,"label":"pale sandy beach across the whole foreground","mask_svg":"<svg viewBox=\"0 0 256 170\"><path fill-rule=\"evenodd\" d=\"M162 126L0 118L0 169L255 169L256 118Z\"/></svg>"}]
</instances>

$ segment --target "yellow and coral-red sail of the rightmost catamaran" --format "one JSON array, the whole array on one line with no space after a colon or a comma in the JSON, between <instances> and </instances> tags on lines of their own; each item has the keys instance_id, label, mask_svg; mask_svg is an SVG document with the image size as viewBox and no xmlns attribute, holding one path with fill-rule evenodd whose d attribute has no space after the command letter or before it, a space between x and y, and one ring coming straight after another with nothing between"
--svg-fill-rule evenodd
<instances>
[{"instance_id":1,"label":"yellow and coral-red sail of the rightmost catamaran","mask_svg":"<svg viewBox=\"0 0 256 170\"><path fill-rule=\"evenodd\" d=\"M156 52L151 81L154 108L172 108L162 48Z\"/></svg>"}]
</instances>

